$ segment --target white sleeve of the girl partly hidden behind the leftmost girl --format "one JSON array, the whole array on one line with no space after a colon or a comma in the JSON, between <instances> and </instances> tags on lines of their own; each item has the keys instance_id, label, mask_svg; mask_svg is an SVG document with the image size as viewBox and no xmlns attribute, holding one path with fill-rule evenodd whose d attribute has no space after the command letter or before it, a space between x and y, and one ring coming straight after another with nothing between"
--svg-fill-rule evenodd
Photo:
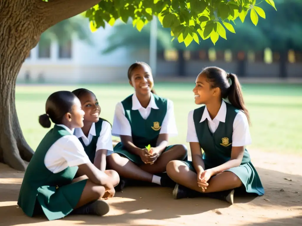
<instances>
[{"instance_id":1,"label":"white sleeve of the girl partly hidden behind the leftmost girl","mask_svg":"<svg viewBox=\"0 0 302 226\"><path fill-rule=\"evenodd\" d=\"M101 149L108 150L107 155L113 153L113 145L112 145L112 136L111 136L111 126L108 122L103 121L102 129L100 132L100 136L98 137L98 141L96 143L96 152Z\"/></svg>"}]
</instances>

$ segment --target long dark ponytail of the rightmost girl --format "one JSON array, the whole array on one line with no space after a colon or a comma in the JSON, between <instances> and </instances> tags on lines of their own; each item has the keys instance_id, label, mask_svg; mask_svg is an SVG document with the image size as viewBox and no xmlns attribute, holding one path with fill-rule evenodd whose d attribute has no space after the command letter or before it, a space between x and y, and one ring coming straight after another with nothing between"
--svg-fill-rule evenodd
<instances>
[{"instance_id":1,"label":"long dark ponytail of the rightmost girl","mask_svg":"<svg viewBox=\"0 0 302 226\"><path fill-rule=\"evenodd\" d=\"M249 111L247 110L244 100L241 85L236 74L228 73L227 74L228 82L230 83L229 92L228 92L228 99L234 107L242 110L246 115L248 122L250 123L249 119Z\"/></svg>"}]
</instances>

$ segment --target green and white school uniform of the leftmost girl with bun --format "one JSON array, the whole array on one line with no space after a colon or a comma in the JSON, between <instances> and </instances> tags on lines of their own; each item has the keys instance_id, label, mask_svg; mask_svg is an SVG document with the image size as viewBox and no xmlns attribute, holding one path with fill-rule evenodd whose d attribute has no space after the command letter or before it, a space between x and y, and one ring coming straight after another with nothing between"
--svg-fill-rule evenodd
<instances>
[{"instance_id":1,"label":"green and white school uniform of the leftmost girl with bun","mask_svg":"<svg viewBox=\"0 0 302 226\"><path fill-rule=\"evenodd\" d=\"M48 220L68 215L77 205L87 180L72 183L78 165L90 160L81 142L65 125L55 125L37 147L24 174L18 205L30 217Z\"/></svg>"}]
</instances>

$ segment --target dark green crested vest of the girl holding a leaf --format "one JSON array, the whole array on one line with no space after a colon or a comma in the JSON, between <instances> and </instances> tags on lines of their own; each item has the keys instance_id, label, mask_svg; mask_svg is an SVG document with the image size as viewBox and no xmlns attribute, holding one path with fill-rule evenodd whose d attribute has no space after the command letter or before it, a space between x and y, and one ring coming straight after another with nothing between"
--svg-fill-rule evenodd
<instances>
[{"instance_id":1,"label":"dark green crested vest of the girl holding a leaf","mask_svg":"<svg viewBox=\"0 0 302 226\"><path fill-rule=\"evenodd\" d=\"M131 126L133 144L139 148L145 148L148 144L151 147L156 147L162 121L167 112L167 99L154 94L151 95L154 96L155 103L159 109L151 108L147 119L143 119L138 110L132 110L133 95L122 101L125 116Z\"/></svg>"}]
</instances>

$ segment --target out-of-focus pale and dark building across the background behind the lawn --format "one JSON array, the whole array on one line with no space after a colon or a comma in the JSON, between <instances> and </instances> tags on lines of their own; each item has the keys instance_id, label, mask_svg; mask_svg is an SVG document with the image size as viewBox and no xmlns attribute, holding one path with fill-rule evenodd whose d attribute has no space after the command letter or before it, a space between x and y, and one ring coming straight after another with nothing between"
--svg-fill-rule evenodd
<instances>
[{"instance_id":1,"label":"out-of-focus pale and dark building across the background behind the lawn","mask_svg":"<svg viewBox=\"0 0 302 226\"><path fill-rule=\"evenodd\" d=\"M74 37L64 46L57 42L39 44L31 50L17 82L100 83L126 81L127 69L135 61L149 62L149 49L120 48L104 55L112 27L91 33L94 45ZM245 78L302 78L302 54L289 50L282 55L265 49L261 52L159 51L156 75L159 79L195 77L203 67L218 66Z\"/></svg>"}]
</instances>

